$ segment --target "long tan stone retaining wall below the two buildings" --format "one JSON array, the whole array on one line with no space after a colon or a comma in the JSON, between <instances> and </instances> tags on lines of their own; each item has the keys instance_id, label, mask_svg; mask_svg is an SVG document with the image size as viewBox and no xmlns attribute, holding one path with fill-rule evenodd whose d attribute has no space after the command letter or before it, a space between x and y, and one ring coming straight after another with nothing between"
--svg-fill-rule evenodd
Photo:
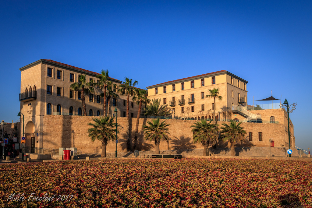
<instances>
[{"instance_id":1,"label":"long tan stone retaining wall below the two buildings","mask_svg":"<svg viewBox=\"0 0 312 208\"><path fill-rule=\"evenodd\" d=\"M92 122L95 117L90 116L62 116L62 115L45 115L43 128L43 148L69 148L76 147L78 151L85 153L100 153L101 143L99 141L92 142L88 137L87 124ZM144 141L142 126L152 119L139 119L139 151L153 150L154 143ZM175 149L202 149L201 144L194 144L192 141L193 133L190 126L194 123L192 120L171 120L161 119L170 124L170 140L169 143L161 142L160 150ZM117 144L118 152L126 152L125 125L126 118L118 118L117 122L123 127L119 130L119 143ZM132 129L132 144L135 131L136 118L132 119L130 128ZM130 122L131 123L131 122ZM219 125L229 122L218 122ZM285 130L284 124L277 123L242 123L242 127L246 130L246 147L268 147L269 138L275 141L275 147L285 147ZM253 132L253 141L248 141L248 132ZM262 141L258 139L258 133L262 132ZM224 147L226 144L218 144L218 147ZM115 152L115 142L109 142L106 148L107 152Z\"/></svg>"}]
</instances>

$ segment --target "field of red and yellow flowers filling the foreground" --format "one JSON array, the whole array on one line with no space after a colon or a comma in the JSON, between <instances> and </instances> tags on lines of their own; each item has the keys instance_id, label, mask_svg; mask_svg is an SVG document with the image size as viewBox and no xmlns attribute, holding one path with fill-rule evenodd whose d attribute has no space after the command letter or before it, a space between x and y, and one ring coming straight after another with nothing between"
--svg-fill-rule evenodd
<instances>
[{"instance_id":1,"label":"field of red and yellow flowers filling the foreground","mask_svg":"<svg viewBox=\"0 0 312 208\"><path fill-rule=\"evenodd\" d=\"M0 207L312 207L311 168L239 159L1 164Z\"/></svg>"}]
</instances>

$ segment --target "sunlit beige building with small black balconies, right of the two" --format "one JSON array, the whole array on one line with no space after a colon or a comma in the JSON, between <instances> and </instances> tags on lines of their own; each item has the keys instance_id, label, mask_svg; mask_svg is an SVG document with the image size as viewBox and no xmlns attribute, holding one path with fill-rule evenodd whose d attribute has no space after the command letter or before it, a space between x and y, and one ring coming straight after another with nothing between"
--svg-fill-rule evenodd
<instances>
[{"instance_id":1,"label":"sunlit beige building with small black balconies, right of the two","mask_svg":"<svg viewBox=\"0 0 312 208\"><path fill-rule=\"evenodd\" d=\"M147 87L149 99L161 99L168 104L179 119L202 117L212 119L213 109L216 119L229 116L233 106L246 105L247 81L225 70L168 81ZM218 88L222 100L206 98L208 89ZM231 118L228 118L231 119ZM224 119L223 119L224 120Z\"/></svg>"}]
</instances>

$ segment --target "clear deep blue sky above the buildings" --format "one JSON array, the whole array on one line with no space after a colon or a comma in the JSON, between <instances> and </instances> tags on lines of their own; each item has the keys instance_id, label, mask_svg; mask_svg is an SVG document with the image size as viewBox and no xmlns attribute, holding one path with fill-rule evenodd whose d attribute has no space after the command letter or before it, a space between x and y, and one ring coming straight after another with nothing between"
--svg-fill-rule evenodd
<instances>
[{"instance_id":1,"label":"clear deep blue sky above the buildings","mask_svg":"<svg viewBox=\"0 0 312 208\"><path fill-rule=\"evenodd\" d=\"M312 148L311 11L312 1L0 1L0 119L19 119L18 69L39 59L140 88L228 70L249 82L248 104L271 90L297 102L296 146Z\"/></svg>"}]
</instances>

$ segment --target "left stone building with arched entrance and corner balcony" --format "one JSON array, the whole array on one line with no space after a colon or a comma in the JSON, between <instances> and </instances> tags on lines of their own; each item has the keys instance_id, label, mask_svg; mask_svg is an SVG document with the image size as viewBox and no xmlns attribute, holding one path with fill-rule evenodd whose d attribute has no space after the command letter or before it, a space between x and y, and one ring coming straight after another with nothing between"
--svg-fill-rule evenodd
<instances>
[{"instance_id":1,"label":"left stone building with arched entrance and corner balcony","mask_svg":"<svg viewBox=\"0 0 312 208\"><path fill-rule=\"evenodd\" d=\"M83 115L81 93L70 89L70 85L78 82L79 75L86 75L86 82L94 80L99 73L63 64L54 60L40 59L20 68L21 93L19 101L21 113L24 115L24 129L26 147L43 147L43 117L44 115ZM121 81L109 78L113 83L120 85ZM102 92L95 87L94 94L85 95L86 111L88 116L103 115L104 99ZM119 95L119 99L110 100L108 114L113 114L117 108L118 117L126 117L126 95ZM129 103L129 116L136 117L138 106ZM23 125L21 117L21 125ZM21 127L21 129L23 129Z\"/></svg>"}]
</instances>

